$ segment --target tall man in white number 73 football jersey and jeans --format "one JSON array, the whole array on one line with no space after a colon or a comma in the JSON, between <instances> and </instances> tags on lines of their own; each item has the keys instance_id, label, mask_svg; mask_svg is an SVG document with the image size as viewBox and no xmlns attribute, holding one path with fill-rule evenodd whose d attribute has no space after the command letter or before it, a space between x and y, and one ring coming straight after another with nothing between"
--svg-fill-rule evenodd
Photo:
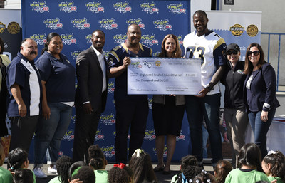
<instances>
[{"instance_id":1,"label":"tall man in white number 73 football jersey and jeans","mask_svg":"<svg viewBox=\"0 0 285 183\"><path fill-rule=\"evenodd\" d=\"M202 166L202 121L206 122L211 144L212 164L222 160L222 140L219 132L219 79L224 70L226 43L217 33L207 28L207 14L198 10L193 14L196 31L185 36L185 58L201 59L202 90L197 95L185 95L186 113L190 125L192 155Z\"/></svg>"}]
</instances>

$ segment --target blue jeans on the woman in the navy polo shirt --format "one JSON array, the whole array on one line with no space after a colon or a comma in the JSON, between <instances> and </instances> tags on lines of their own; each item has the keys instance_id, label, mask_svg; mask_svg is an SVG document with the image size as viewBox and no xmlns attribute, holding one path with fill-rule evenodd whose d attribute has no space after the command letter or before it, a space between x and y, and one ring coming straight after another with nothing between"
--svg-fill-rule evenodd
<instances>
[{"instance_id":1,"label":"blue jeans on the woman in the navy polo shirt","mask_svg":"<svg viewBox=\"0 0 285 183\"><path fill-rule=\"evenodd\" d=\"M72 107L63 103L48 103L51 109L49 119L42 116L36 127L35 167L43 167L45 156L48 164L56 164L61 140L71 122Z\"/></svg>"}]
</instances>

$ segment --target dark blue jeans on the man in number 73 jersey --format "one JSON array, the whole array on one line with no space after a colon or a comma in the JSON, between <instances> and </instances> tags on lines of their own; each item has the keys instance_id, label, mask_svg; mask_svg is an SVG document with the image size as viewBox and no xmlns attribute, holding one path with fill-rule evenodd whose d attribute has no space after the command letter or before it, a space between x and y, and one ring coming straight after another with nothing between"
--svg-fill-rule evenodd
<instances>
[{"instance_id":1,"label":"dark blue jeans on the man in number 73 jersey","mask_svg":"<svg viewBox=\"0 0 285 183\"><path fill-rule=\"evenodd\" d=\"M197 98L194 95L185 95L186 113L190 126L192 155L198 162L203 160L202 122L203 117L209 133L209 142L212 152L212 164L222 160L222 139L219 132L219 105L220 93Z\"/></svg>"}]
</instances>

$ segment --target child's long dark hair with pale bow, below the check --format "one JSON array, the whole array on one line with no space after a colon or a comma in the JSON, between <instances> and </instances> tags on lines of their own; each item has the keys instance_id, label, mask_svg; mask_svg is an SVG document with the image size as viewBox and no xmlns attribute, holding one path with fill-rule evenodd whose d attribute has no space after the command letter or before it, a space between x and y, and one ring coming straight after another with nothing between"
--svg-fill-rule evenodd
<instances>
[{"instance_id":1,"label":"child's long dark hair with pale bow, below the check","mask_svg":"<svg viewBox=\"0 0 285 183\"><path fill-rule=\"evenodd\" d=\"M143 150L135 150L133 156L130 158L129 167L133 169L134 182L157 182L150 155Z\"/></svg>"}]
</instances>

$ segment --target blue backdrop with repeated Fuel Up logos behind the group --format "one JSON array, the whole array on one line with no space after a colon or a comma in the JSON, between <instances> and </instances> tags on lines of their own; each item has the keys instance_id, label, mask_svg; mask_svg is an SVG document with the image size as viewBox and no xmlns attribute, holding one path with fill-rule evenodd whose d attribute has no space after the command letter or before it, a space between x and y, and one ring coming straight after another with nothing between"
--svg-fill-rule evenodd
<instances>
[{"instance_id":1,"label":"blue backdrop with repeated Fuel Up logos behind the group","mask_svg":"<svg viewBox=\"0 0 285 183\"><path fill-rule=\"evenodd\" d=\"M108 52L120 43L125 42L128 25L137 23L142 30L141 43L150 46L152 56L160 52L162 39L169 33L182 40L190 33L190 1L33 1L22 0L23 38L33 38L41 51L48 33L56 32L63 39L63 51L69 61L75 66L76 56L89 48L91 33L100 29L105 33L105 46ZM115 80L108 83L108 101L105 112L100 117L95 144L100 145L109 162L115 161L115 105L113 92ZM147 130L142 149L148 152L156 161L155 130L152 122L152 95L149 95L150 113L147 120ZM72 156L75 109L61 143L60 155ZM189 154L189 127L185 115L180 137L177 137L177 147L173 161ZM33 144L29 159L33 162ZM165 147L165 153L167 150Z\"/></svg>"}]
</instances>

